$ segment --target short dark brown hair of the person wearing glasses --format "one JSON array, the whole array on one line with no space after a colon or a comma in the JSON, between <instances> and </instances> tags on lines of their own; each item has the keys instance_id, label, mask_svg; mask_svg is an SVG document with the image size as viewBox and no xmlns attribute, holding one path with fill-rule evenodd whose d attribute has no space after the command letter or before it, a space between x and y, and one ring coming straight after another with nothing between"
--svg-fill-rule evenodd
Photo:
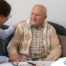
<instances>
[{"instance_id":1,"label":"short dark brown hair of the person wearing glasses","mask_svg":"<svg viewBox=\"0 0 66 66\"><path fill-rule=\"evenodd\" d=\"M5 0L0 0L0 15L7 17L10 14L11 6Z\"/></svg>"}]
</instances>

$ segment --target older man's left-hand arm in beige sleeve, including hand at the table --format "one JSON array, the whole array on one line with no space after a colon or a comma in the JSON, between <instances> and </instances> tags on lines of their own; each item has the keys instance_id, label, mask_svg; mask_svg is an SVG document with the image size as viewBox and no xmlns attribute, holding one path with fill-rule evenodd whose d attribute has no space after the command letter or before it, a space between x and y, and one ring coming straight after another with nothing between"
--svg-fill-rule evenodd
<instances>
[{"instance_id":1,"label":"older man's left-hand arm in beige sleeve, including hand at the table","mask_svg":"<svg viewBox=\"0 0 66 66\"><path fill-rule=\"evenodd\" d=\"M9 61L15 61L18 59L19 61L19 58L20 56L18 55L17 51L18 51L18 48L19 48L19 44L20 42L22 41L22 26L19 25L14 33L14 36L12 38L12 40L10 41L10 43L8 44L8 47L7 47L7 50L8 50L8 53L9 53Z\"/></svg>"}]
</instances>

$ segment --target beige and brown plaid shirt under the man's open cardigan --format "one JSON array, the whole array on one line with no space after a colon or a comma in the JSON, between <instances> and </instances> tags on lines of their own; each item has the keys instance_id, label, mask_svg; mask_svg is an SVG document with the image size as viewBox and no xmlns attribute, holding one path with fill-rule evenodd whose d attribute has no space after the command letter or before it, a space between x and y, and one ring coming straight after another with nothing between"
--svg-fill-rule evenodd
<instances>
[{"instance_id":1,"label":"beige and brown plaid shirt under the man's open cardigan","mask_svg":"<svg viewBox=\"0 0 66 66\"><path fill-rule=\"evenodd\" d=\"M30 47L30 56L31 58L40 58L44 54L43 46L43 24L36 29L34 26L31 26L32 30L32 44Z\"/></svg>"}]
</instances>

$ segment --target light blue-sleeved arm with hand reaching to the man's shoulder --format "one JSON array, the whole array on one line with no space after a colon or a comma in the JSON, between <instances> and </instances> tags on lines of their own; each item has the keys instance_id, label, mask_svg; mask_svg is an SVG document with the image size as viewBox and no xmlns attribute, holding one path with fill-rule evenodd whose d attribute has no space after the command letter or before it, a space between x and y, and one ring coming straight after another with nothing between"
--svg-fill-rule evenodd
<instances>
[{"instance_id":1,"label":"light blue-sleeved arm with hand reaching to the man's shoulder","mask_svg":"<svg viewBox=\"0 0 66 66\"><path fill-rule=\"evenodd\" d=\"M8 29L1 29L0 28L0 38L4 39L7 38L8 36L10 36L11 34L14 33L15 29L17 28L17 26L23 22L25 22L26 20L23 20L21 22L18 22L16 25L14 25L13 27L9 27Z\"/></svg>"}]
</instances>

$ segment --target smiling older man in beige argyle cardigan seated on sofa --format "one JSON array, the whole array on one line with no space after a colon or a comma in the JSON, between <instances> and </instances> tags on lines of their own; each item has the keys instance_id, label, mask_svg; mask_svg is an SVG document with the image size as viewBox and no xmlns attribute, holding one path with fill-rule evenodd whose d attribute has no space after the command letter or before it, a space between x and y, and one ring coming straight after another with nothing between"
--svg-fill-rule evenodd
<instances>
[{"instance_id":1,"label":"smiling older man in beige argyle cardigan seated on sofa","mask_svg":"<svg viewBox=\"0 0 66 66\"><path fill-rule=\"evenodd\" d=\"M8 45L9 61L57 60L61 46L55 29L48 24L43 5L32 8L30 19L18 26Z\"/></svg>"}]
</instances>

